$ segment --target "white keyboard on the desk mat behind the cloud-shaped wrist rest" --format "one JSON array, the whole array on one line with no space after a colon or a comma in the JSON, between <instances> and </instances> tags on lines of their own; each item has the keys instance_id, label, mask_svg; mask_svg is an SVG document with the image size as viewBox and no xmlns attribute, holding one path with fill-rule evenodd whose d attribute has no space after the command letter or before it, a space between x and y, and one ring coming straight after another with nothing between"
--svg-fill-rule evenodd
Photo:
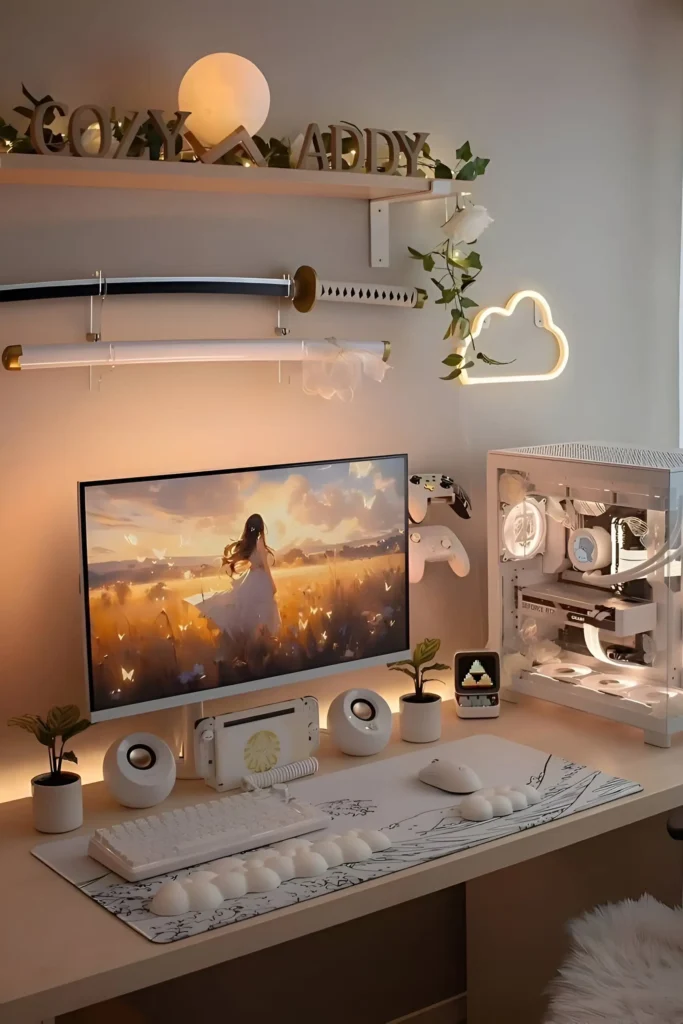
<instances>
[{"instance_id":1,"label":"white keyboard on the desk mat behind the cloud-shaped wrist rest","mask_svg":"<svg viewBox=\"0 0 683 1024\"><path fill-rule=\"evenodd\" d=\"M97 828L88 853L129 882L139 882L329 824L310 804L257 791Z\"/></svg>"}]
</instances>

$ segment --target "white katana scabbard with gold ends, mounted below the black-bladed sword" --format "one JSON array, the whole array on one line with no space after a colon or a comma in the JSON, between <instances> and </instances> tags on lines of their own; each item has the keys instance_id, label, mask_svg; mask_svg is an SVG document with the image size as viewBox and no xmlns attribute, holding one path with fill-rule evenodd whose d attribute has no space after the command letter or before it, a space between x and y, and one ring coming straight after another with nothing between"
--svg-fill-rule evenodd
<instances>
[{"instance_id":1,"label":"white katana scabbard with gold ends, mounted below the black-bladed sword","mask_svg":"<svg viewBox=\"0 0 683 1024\"><path fill-rule=\"evenodd\" d=\"M112 341L69 345L8 345L5 370L61 367L117 367L159 362L301 362L335 357L340 351L367 353L386 362L388 341Z\"/></svg>"}]
</instances>

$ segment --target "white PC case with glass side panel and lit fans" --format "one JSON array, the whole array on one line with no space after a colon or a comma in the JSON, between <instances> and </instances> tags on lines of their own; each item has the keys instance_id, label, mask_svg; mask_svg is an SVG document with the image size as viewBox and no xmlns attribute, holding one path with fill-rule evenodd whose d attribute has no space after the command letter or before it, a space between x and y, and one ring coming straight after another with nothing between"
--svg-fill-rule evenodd
<instances>
[{"instance_id":1,"label":"white PC case with glass side panel and lit fans","mask_svg":"<svg viewBox=\"0 0 683 1024\"><path fill-rule=\"evenodd\" d=\"M488 453L488 646L503 695L683 729L683 452L546 444Z\"/></svg>"}]
</instances>

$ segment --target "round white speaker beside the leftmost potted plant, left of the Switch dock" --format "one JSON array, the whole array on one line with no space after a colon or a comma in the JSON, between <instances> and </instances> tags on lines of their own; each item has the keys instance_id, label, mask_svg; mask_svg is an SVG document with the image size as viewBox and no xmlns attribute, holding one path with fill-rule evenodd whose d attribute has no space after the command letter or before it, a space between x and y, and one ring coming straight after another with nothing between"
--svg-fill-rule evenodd
<instances>
[{"instance_id":1,"label":"round white speaker beside the leftmost potted plant, left of the Switch dock","mask_svg":"<svg viewBox=\"0 0 683 1024\"><path fill-rule=\"evenodd\" d=\"M154 807L175 784L175 759L159 736L133 732L112 743L103 773L108 790L124 807Z\"/></svg>"}]
</instances>

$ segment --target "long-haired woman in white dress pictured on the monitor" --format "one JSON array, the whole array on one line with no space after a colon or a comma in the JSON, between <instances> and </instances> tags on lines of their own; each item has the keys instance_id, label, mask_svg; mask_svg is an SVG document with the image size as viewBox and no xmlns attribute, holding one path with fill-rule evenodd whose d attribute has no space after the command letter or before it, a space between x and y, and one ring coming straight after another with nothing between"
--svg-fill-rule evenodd
<instances>
[{"instance_id":1,"label":"long-haired woman in white dress pictured on the monitor","mask_svg":"<svg viewBox=\"0 0 683 1024\"><path fill-rule=\"evenodd\" d=\"M254 513L247 519L240 540L228 544L223 552L222 564L234 580L231 590L214 594L197 605L228 636L274 635L280 630L278 588L268 556L272 551L265 543L265 523Z\"/></svg>"}]
</instances>

